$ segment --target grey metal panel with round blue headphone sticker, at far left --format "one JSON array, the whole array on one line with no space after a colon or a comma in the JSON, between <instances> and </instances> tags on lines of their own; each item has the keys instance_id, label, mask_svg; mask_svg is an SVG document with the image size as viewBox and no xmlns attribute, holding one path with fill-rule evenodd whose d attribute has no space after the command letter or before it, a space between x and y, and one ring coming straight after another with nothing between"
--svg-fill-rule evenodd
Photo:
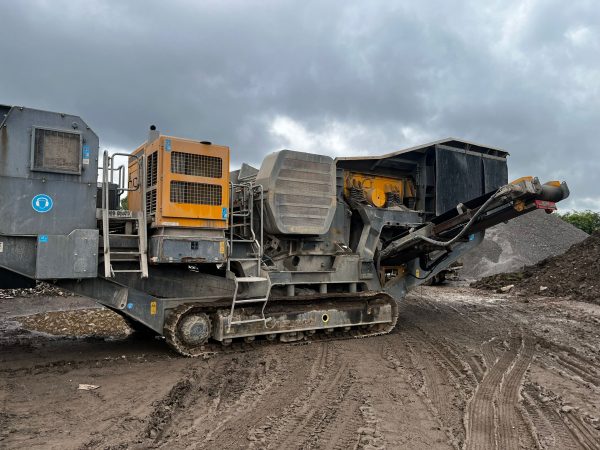
<instances>
[{"instance_id":1,"label":"grey metal panel with round blue headphone sticker, at far left","mask_svg":"<svg viewBox=\"0 0 600 450\"><path fill-rule=\"evenodd\" d=\"M77 144L80 148L73 156L81 173L48 172L43 167L31 170L36 127L81 136L81 146ZM60 148L54 153L60 154ZM0 234L68 235L75 229L95 228L97 174L98 137L81 118L11 108L0 128ZM32 206L36 195L50 198L52 208L36 212Z\"/></svg>"}]
</instances>

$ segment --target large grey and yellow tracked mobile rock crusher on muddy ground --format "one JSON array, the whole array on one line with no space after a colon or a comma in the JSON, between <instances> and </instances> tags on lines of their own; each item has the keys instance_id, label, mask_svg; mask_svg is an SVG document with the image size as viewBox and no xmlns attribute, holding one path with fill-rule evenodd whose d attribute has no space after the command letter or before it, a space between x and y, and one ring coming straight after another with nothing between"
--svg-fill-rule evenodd
<instances>
[{"instance_id":1,"label":"large grey and yellow tracked mobile rock crusher on muddy ground","mask_svg":"<svg viewBox=\"0 0 600 450\"><path fill-rule=\"evenodd\" d=\"M0 107L0 281L54 282L184 355L386 333L486 228L568 196L508 183L507 155L445 139L336 160L282 150L230 172L225 146L151 129L99 155L79 117Z\"/></svg>"}]
</instances>

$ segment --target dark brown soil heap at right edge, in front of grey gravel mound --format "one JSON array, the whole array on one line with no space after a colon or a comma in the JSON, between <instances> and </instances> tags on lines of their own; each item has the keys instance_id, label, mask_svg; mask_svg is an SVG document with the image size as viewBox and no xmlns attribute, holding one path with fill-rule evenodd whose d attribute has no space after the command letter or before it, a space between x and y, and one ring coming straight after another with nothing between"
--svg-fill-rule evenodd
<instances>
[{"instance_id":1,"label":"dark brown soil heap at right edge, in front of grey gravel mound","mask_svg":"<svg viewBox=\"0 0 600 450\"><path fill-rule=\"evenodd\" d=\"M600 231L573 245L563 255L547 258L516 273L482 278L471 286L507 289L513 284L521 294L570 297L600 303Z\"/></svg>"}]
</instances>

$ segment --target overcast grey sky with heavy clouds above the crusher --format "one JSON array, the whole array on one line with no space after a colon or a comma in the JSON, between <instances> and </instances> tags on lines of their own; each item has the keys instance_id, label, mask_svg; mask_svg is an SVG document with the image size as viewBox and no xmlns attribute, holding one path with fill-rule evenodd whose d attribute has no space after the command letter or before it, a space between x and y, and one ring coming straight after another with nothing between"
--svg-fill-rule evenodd
<instances>
[{"instance_id":1,"label":"overcast grey sky with heavy clouds above the crusher","mask_svg":"<svg viewBox=\"0 0 600 450\"><path fill-rule=\"evenodd\" d=\"M453 136L600 210L595 0L0 0L0 103L80 115L115 150L156 124L234 165Z\"/></svg>"}]
</instances>

